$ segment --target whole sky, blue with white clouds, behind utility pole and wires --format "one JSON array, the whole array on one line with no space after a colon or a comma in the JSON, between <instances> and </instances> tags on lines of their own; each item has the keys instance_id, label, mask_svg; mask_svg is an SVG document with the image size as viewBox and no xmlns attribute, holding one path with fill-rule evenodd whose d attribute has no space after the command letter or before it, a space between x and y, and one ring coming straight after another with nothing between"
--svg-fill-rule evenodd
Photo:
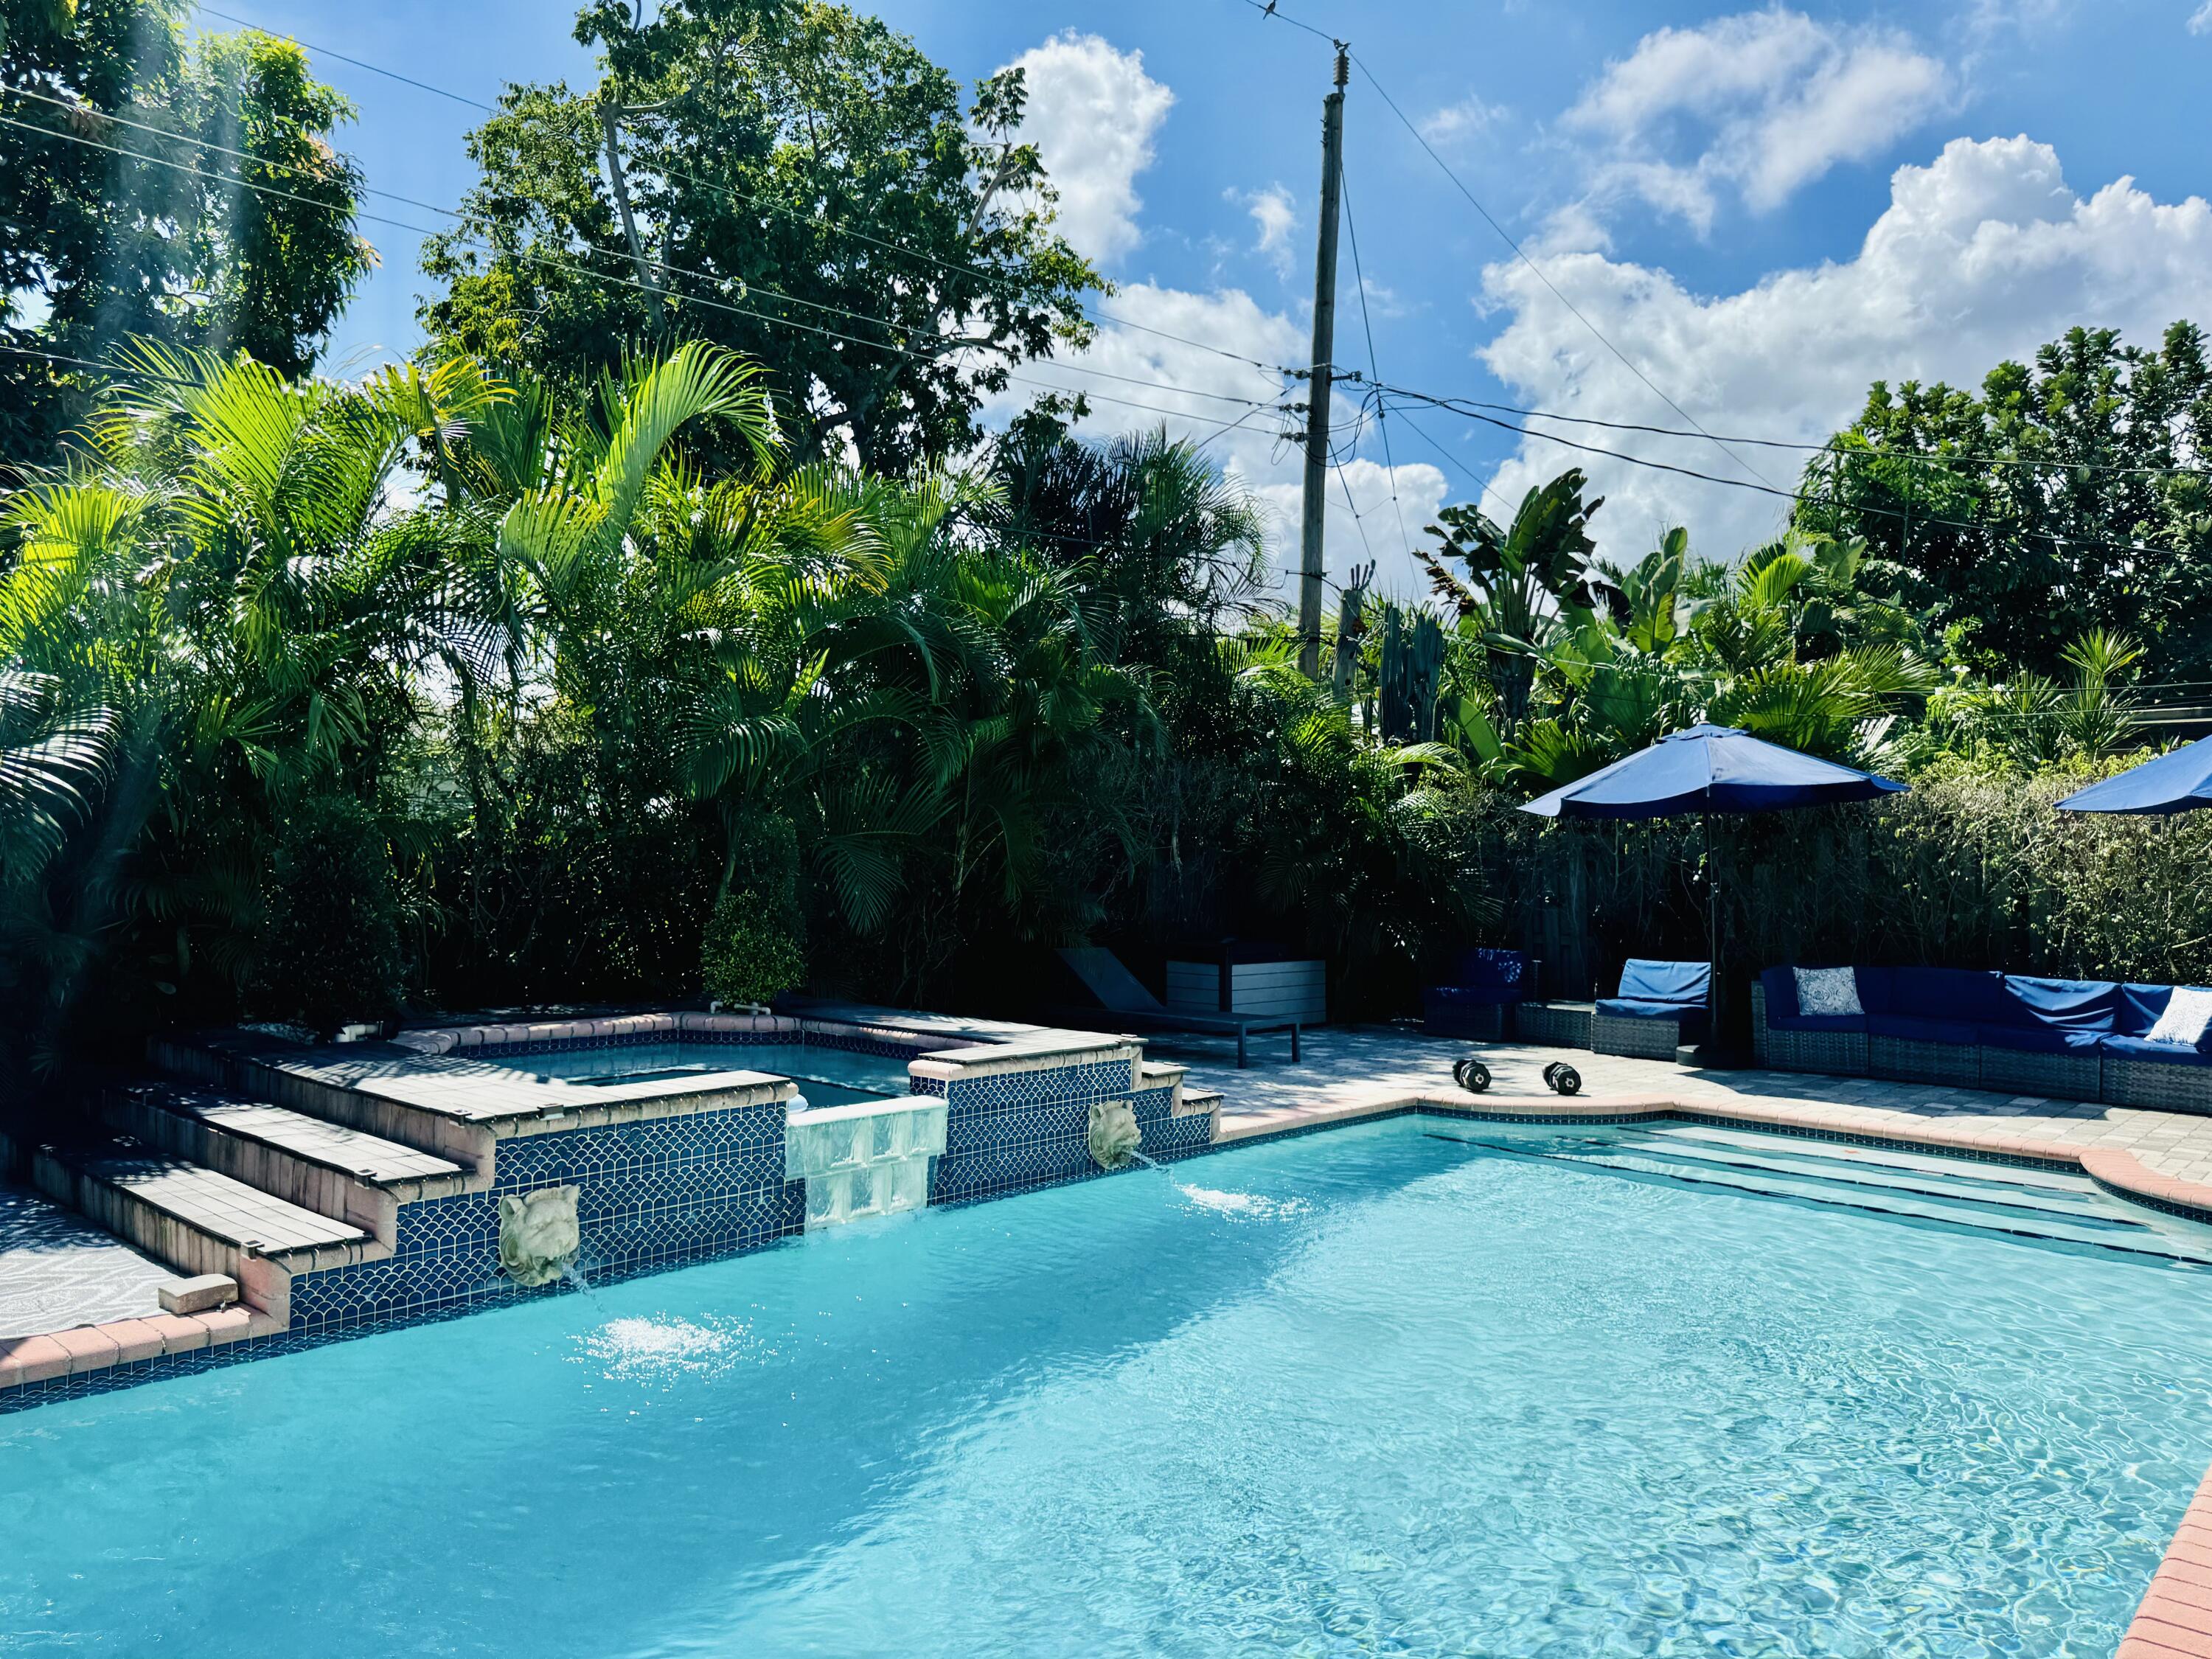
<instances>
[{"instance_id":1,"label":"whole sky, blue with white clouds, behind utility pole and wires","mask_svg":"<svg viewBox=\"0 0 2212 1659\"><path fill-rule=\"evenodd\" d=\"M223 9L473 97L507 80L591 75L560 0ZM2174 316L2212 325L2201 142L2212 0L1283 9L1352 40L1566 296L1511 254L1354 71L1347 181L1376 363L1391 383L1679 427L1666 394L1717 434L1818 442L1874 376L1971 380L2077 321L2146 343ZM1267 363L1303 361L1323 40L1245 0L885 0L878 11L962 80L1029 64L1031 135L1064 186L1066 230L1121 285L1108 310ZM473 111L330 58L319 69L361 106L347 146L372 186L458 199ZM332 363L347 369L416 343L416 237L367 232L385 268L338 330ZM1338 361L1365 367L1349 252ZM1157 336L1108 330L1093 358L1159 389L1075 374L1068 385L1181 411L1170 425L1192 436L1217 434L1201 416L1237 405L1190 392L1279 396L1272 376ZM1102 405L1097 429L1155 418ZM1270 425L1214 436L1210 453L1287 529L1296 460ZM1736 480L1790 484L1796 465L1703 438L1573 436ZM1418 586L1400 520L1418 540L1440 500L1489 487L1495 509L1577 460L1433 411L1391 422L1396 467L1374 422L1347 416L1343 440L1329 566L1340 573L1365 544L1396 591ZM1670 522L1688 522L1710 553L1736 553L1785 511L1745 489L1579 465L1608 495L1593 529L1619 557Z\"/></svg>"}]
</instances>

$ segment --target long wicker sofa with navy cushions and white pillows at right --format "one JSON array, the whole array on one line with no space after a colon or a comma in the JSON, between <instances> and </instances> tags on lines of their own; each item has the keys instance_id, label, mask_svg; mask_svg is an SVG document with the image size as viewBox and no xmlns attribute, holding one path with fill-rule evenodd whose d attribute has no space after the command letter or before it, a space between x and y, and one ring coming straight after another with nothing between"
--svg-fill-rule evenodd
<instances>
[{"instance_id":1,"label":"long wicker sofa with navy cushions and white pillows at right","mask_svg":"<svg viewBox=\"0 0 2212 1659\"><path fill-rule=\"evenodd\" d=\"M2212 1035L2150 1035L2177 987L1929 967L1849 973L1856 1015L1805 1013L1794 967L1759 975L1761 1066L2212 1113Z\"/></svg>"}]
</instances>

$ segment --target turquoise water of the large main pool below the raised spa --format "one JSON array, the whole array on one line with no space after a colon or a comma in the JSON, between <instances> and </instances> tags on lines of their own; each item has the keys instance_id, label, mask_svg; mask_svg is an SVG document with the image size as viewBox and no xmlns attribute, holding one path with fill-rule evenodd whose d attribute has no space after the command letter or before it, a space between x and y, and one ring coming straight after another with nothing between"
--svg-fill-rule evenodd
<instances>
[{"instance_id":1,"label":"turquoise water of the large main pool below the raised spa","mask_svg":"<svg viewBox=\"0 0 2212 1659\"><path fill-rule=\"evenodd\" d=\"M0 1418L0 1648L2112 1652L2212 1460L2203 1270L1462 1128Z\"/></svg>"}]
</instances>

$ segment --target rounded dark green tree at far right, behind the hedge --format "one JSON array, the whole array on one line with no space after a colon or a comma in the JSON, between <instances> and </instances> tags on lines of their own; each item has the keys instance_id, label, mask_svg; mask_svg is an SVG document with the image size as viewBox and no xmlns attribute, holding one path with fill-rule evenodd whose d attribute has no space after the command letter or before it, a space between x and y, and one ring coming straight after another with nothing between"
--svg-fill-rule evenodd
<instances>
[{"instance_id":1,"label":"rounded dark green tree at far right, behind the hedge","mask_svg":"<svg viewBox=\"0 0 2212 1659\"><path fill-rule=\"evenodd\" d=\"M2212 672L2212 361L2075 327L1980 392L1876 380L1803 478L1796 524L1860 538L1898 597L1984 672L2064 668L2088 630Z\"/></svg>"}]
</instances>

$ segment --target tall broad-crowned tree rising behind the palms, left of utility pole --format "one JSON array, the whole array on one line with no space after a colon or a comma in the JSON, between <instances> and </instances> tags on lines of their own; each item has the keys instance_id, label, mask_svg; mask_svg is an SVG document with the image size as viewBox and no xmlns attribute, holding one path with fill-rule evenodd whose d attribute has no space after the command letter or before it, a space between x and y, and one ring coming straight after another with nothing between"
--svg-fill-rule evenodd
<instances>
[{"instance_id":1,"label":"tall broad-crowned tree rising behind the palms, left of utility pole","mask_svg":"<svg viewBox=\"0 0 2212 1659\"><path fill-rule=\"evenodd\" d=\"M1006 369L1082 341L1097 272L1051 228L1020 71L951 75L821 0L597 0L597 86L513 86L425 246L431 352L555 383L644 343L759 363L796 460L907 471L978 436Z\"/></svg>"}]
</instances>

